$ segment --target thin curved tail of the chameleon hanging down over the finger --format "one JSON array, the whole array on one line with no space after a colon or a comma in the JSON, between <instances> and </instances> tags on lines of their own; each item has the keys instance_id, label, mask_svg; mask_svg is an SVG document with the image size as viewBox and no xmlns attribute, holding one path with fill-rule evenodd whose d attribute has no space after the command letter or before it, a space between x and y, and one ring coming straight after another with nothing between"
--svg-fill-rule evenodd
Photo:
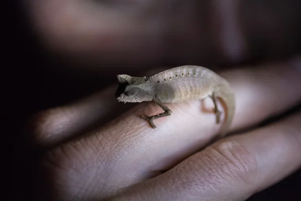
<instances>
[{"instance_id":1,"label":"thin curved tail of the chameleon hanging down over the finger","mask_svg":"<svg viewBox=\"0 0 301 201\"><path fill-rule=\"evenodd\" d=\"M216 92L216 96L221 100L224 105L224 121L220 127L218 138L222 138L227 135L233 120L235 113L235 95L231 91L230 87L227 90L219 90Z\"/></svg>"}]
</instances>

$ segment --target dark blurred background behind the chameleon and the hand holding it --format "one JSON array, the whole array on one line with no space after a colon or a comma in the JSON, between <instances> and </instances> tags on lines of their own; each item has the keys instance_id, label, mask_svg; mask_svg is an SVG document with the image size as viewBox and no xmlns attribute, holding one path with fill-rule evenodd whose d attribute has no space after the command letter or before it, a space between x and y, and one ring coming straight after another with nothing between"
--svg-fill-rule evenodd
<instances>
[{"instance_id":1,"label":"dark blurred background behind the chameleon and the hand holding it","mask_svg":"<svg viewBox=\"0 0 301 201\"><path fill-rule=\"evenodd\" d=\"M242 67L301 52L298 0L4 4L2 116L8 164L28 117L100 90L116 82L117 73L138 76L188 64ZM19 191L10 178L13 192ZM301 200L300 180L299 171L249 200Z\"/></svg>"}]
</instances>

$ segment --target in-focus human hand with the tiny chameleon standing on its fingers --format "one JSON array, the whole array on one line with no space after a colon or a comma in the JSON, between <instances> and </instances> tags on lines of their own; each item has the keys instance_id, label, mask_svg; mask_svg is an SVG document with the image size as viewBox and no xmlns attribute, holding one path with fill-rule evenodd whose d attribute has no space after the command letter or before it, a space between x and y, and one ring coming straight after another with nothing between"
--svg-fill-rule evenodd
<instances>
[{"instance_id":1,"label":"in-focus human hand with the tiny chameleon standing on its fingers","mask_svg":"<svg viewBox=\"0 0 301 201\"><path fill-rule=\"evenodd\" d=\"M42 198L46 192L54 200L248 198L301 165L300 112L256 127L300 102L300 64L293 65L266 64L221 73L237 99L231 131L255 127L207 147L218 125L213 113L202 113L200 101L169 104L172 116L156 120L155 130L139 118L161 110L150 103L97 125L126 106L115 100L115 85L39 113L33 120L35 142L55 147L39 166ZM205 105L213 107L210 101Z\"/></svg>"}]
</instances>

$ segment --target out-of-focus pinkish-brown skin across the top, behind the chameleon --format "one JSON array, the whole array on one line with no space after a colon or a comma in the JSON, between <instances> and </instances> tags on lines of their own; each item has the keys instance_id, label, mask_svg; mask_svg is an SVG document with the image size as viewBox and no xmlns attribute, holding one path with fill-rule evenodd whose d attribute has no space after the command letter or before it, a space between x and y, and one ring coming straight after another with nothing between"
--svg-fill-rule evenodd
<instances>
[{"instance_id":1,"label":"out-of-focus pinkish-brown skin across the top, behind the chameleon","mask_svg":"<svg viewBox=\"0 0 301 201\"><path fill-rule=\"evenodd\" d=\"M100 74L126 64L136 71L147 64L208 67L285 58L301 44L295 0L24 2L47 49Z\"/></svg>"}]
</instances>

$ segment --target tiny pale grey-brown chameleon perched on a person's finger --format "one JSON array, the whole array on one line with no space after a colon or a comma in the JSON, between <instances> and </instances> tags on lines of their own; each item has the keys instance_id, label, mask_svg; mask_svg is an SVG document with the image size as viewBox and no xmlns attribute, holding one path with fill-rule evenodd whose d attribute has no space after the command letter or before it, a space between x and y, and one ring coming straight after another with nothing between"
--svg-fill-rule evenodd
<instances>
[{"instance_id":1,"label":"tiny pale grey-brown chameleon perched on a person's finger","mask_svg":"<svg viewBox=\"0 0 301 201\"><path fill-rule=\"evenodd\" d=\"M201 66L179 66L151 77L131 77L129 75L117 75L119 86L115 97L119 102L140 103L154 101L163 110L155 116L142 116L154 129L154 120L170 116L172 111L165 103L179 103L191 99L203 99L211 97L214 103L216 123L220 123L221 112L217 107L217 99L226 106L225 119L221 125L219 137L227 134L231 126L234 111L235 97L226 79Z\"/></svg>"}]
</instances>

